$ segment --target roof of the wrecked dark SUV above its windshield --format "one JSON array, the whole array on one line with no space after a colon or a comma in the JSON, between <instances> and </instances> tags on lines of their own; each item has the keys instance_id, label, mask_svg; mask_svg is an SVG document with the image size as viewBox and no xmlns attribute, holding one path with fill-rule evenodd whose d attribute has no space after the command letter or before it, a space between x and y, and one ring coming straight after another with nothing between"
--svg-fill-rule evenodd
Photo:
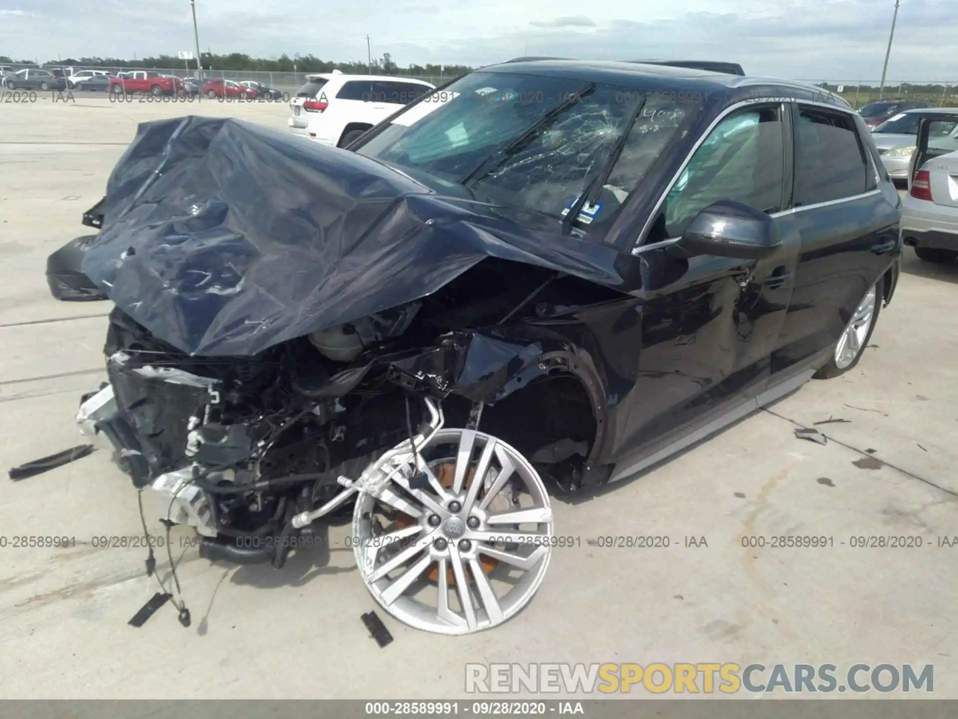
<instances>
[{"instance_id":1,"label":"roof of the wrecked dark SUV above its windshield","mask_svg":"<svg viewBox=\"0 0 958 719\"><path fill-rule=\"evenodd\" d=\"M828 98L833 104L850 107L848 101L824 87L794 80L730 75L725 72L698 70L674 65L652 64L633 61L577 60L562 58L516 58L496 65L480 68L482 72L503 72L528 75L551 75L602 81L625 87L648 89L650 84L660 88L671 83L694 86L705 92L719 92L743 87L763 86L769 91L781 92L783 96L812 95Z\"/></svg>"}]
</instances>

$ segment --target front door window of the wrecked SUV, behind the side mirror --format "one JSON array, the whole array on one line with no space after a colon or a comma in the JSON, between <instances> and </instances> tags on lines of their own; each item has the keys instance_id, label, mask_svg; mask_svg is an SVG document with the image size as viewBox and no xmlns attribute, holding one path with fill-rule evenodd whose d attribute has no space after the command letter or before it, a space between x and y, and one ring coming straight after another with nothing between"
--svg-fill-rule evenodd
<instances>
[{"instance_id":1,"label":"front door window of the wrecked SUV, behind the side mirror","mask_svg":"<svg viewBox=\"0 0 958 719\"><path fill-rule=\"evenodd\" d=\"M733 112L699 146L666 198L666 237L678 237L711 204L734 199L779 212L785 132L779 106Z\"/></svg>"}]
</instances>

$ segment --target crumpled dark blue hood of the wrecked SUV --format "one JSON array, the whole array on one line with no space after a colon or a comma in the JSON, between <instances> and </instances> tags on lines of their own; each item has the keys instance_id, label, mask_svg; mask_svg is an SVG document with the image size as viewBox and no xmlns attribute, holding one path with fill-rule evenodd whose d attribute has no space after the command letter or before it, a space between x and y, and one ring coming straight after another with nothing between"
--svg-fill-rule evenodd
<instances>
[{"instance_id":1,"label":"crumpled dark blue hood of the wrecked SUV","mask_svg":"<svg viewBox=\"0 0 958 719\"><path fill-rule=\"evenodd\" d=\"M624 284L612 247L514 212L439 196L354 152L191 116L140 126L82 271L153 336L207 356L255 355L410 302L486 257Z\"/></svg>"}]
</instances>

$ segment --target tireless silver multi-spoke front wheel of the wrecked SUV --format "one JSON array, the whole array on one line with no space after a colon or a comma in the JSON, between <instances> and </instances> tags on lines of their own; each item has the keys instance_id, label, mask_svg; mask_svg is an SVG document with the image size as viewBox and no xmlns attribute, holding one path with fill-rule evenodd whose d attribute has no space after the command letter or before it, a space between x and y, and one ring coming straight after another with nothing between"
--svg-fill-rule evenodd
<instances>
[{"instance_id":1,"label":"tireless silver multi-spoke front wheel of the wrecked SUV","mask_svg":"<svg viewBox=\"0 0 958 719\"><path fill-rule=\"evenodd\" d=\"M470 429L440 429L421 462L418 481L395 473L356 500L356 566L379 605L411 627L490 629L529 604L549 566L545 485L519 452Z\"/></svg>"}]
</instances>

